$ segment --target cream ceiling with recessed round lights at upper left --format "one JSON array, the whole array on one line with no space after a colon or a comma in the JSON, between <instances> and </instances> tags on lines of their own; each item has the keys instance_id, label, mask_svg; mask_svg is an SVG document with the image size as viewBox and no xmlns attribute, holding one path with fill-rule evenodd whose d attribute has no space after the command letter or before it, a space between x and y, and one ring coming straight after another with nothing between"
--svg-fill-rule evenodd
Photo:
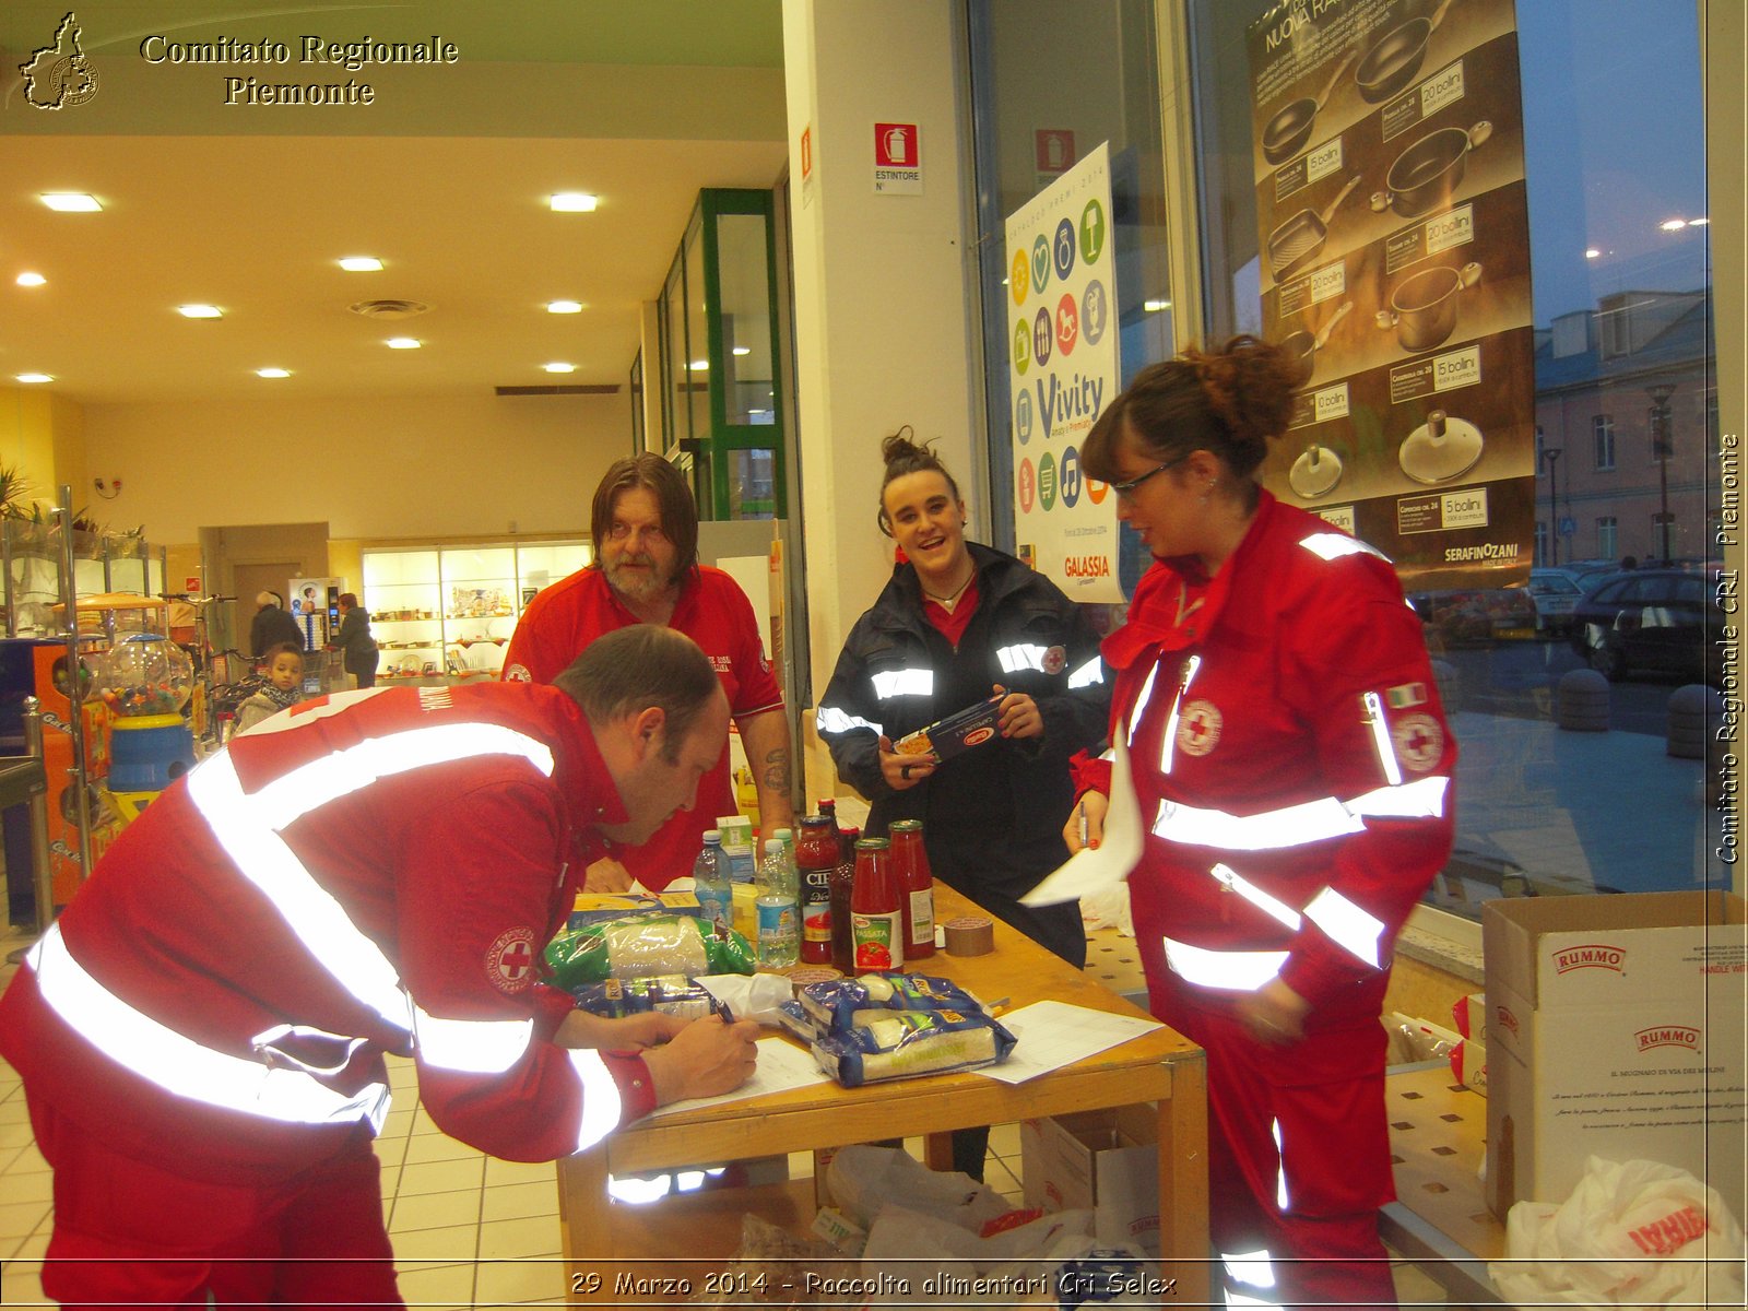
<instances>
[{"instance_id":1,"label":"cream ceiling with recessed round lights at upper left","mask_svg":"<svg viewBox=\"0 0 1748 1311\"><path fill-rule=\"evenodd\" d=\"M399 24L460 45L449 68L350 73L378 86L372 117L220 108L224 75L250 70L138 58L140 33L164 31L166 16L180 23L173 38L212 40L260 33L259 9L80 5L100 72L91 101L37 110L17 80L0 79L0 385L40 371L86 406L622 385L642 306L661 292L697 191L769 189L781 173L776 9L542 0L274 10L287 33L397 38ZM191 24L192 10L206 21ZM51 40L63 12L9 2L0 72L12 73L21 47ZM591 14L603 21L584 21ZM706 16L715 40L711 23L682 21ZM274 75L334 77L295 65ZM505 96L507 86L528 93ZM552 213L545 198L570 189L596 192L600 208ZM103 212L54 213L42 191L87 191ZM362 253L386 267L336 264ZM17 287L26 269L47 285ZM369 299L432 309L399 323L348 311ZM549 315L552 299L586 309ZM224 318L178 316L189 301ZM390 336L425 348L390 350ZM551 360L577 371L544 372ZM292 378L257 378L266 365Z\"/></svg>"}]
</instances>

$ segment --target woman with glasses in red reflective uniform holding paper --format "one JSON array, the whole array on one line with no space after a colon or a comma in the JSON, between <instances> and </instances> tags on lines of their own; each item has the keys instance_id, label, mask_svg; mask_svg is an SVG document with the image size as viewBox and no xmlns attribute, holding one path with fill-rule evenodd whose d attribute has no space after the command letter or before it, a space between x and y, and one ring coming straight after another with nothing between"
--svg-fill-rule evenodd
<instances>
[{"instance_id":1,"label":"woman with glasses in red reflective uniform holding paper","mask_svg":"<svg viewBox=\"0 0 1748 1311\"><path fill-rule=\"evenodd\" d=\"M1395 1306L1379 1009L1451 850L1456 745L1390 561L1257 484L1294 385L1234 337L1143 369L1087 435L1155 558L1105 640L1112 736L1150 829L1129 890L1152 1010L1208 1051L1229 1294ZM1075 848L1108 764L1082 781Z\"/></svg>"}]
</instances>

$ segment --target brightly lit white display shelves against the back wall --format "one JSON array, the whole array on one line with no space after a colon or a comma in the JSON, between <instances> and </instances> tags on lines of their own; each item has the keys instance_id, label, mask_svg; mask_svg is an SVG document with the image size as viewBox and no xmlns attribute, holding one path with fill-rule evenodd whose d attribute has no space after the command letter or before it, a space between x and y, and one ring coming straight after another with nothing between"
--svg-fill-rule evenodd
<instances>
[{"instance_id":1,"label":"brightly lit white display shelves against the back wall","mask_svg":"<svg viewBox=\"0 0 1748 1311\"><path fill-rule=\"evenodd\" d=\"M589 565L587 540L364 551L379 680L496 678L523 608Z\"/></svg>"}]
</instances>

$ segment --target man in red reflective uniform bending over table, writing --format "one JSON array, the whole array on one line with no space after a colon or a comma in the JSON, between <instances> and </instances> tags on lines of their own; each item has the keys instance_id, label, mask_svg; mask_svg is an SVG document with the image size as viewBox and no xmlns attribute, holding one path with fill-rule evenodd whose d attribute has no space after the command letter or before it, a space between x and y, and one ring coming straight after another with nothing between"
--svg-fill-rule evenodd
<instances>
[{"instance_id":1,"label":"man in red reflective uniform bending over table, writing","mask_svg":"<svg viewBox=\"0 0 1748 1311\"><path fill-rule=\"evenodd\" d=\"M554 687L309 701L177 780L0 998L54 1168L44 1290L400 1306L383 1052L512 1161L745 1082L750 1021L598 1019L538 982L587 858L690 806L727 725L703 652L636 626Z\"/></svg>"}]
</instances>

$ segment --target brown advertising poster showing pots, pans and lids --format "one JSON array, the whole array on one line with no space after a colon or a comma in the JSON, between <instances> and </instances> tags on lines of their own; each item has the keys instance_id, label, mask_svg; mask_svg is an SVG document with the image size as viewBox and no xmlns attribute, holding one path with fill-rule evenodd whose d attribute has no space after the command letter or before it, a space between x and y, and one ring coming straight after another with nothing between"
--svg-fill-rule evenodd
<instances>
[{"instance_id":1,"label":"brown advertising poster showing pots, pans and lids","mask_svg":"<svg viewBox=\"0 0 1748 1311\"><path fill-rule=\"evenodd\" d=\"M1248 31L1262 336L1301 392L1264 484L1407 587L1535 542L1535 330L1512 0L1283 0Z\"/></svg>"}]
</instances>

